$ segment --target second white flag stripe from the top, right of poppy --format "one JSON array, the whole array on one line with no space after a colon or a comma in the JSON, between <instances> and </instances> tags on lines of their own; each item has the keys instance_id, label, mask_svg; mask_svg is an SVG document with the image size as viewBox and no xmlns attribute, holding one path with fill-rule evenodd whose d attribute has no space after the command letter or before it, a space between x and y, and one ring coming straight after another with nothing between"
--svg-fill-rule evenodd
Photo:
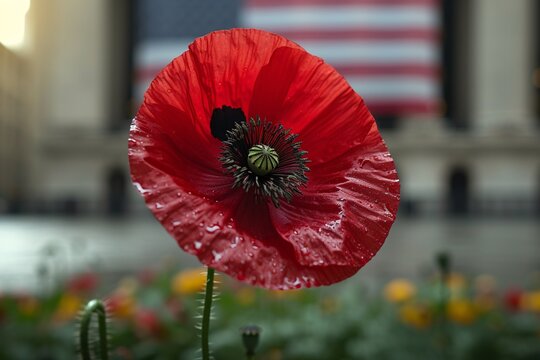
<instances>
[{"instance_id":1,"label":"second white flag stripe from the top, right of poppy","mask_svg":"<svg viewBox=\"0 0 540 360\"><path fill-rule=\"evenodd\" d=\"M301 41L308 52L333 65L376 63L433 64L439 61L439 48L429 41Z\"/></svg>"}]
</instances>

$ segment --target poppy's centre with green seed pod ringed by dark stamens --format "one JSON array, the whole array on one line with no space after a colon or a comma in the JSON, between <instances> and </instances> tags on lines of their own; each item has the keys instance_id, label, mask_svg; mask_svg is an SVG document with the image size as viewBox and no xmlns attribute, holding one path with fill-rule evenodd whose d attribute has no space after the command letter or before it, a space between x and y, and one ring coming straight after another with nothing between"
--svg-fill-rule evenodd
<instances>
[{"instance_id":1,"label":"poppy's centre with green seed pod ringed by dark stamens","mask_svg":"<svg viewBox=\"0 0 540 360\"><path fill-rule=\"evenodd\" d=\"M234 178L233 188L242 188L258 200L270 199L276 207L280 200L290 202L301 194L309 160L297 137L283 125L259 118L234 123L226 131L220 158L225 173Z\"/></svg>"}]
</instances>

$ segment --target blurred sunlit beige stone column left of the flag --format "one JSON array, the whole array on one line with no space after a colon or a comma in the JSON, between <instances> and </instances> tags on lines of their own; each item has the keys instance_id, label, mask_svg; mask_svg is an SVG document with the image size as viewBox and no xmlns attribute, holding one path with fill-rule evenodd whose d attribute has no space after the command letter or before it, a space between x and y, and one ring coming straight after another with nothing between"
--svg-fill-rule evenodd
<instances>
[{"instance_id":1,"label":"blurred sunlit beige stone column left of the flag","mask_svg":"<svg viewBox=\"0 0 540 360\"><path fill-rule=\"evenodd\" d=\"M45 131L100 130L108 115L107 0L33 1L33 62Z\"/></svg>"}]
</instances>

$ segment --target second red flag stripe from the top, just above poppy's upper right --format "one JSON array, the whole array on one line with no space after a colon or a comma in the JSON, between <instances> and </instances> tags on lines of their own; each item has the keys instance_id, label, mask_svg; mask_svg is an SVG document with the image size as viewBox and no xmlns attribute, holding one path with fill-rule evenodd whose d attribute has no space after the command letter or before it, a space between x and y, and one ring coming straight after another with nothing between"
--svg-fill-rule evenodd
<instances>
[{"instance_id":1,"label":"second red flag stripe from the top, just above poppy's upper right","mask_svg":"<svg viewBox=\"0 0 540 360\"><path fill-rule=\"evenodd\" d=\"M294 40L424 40L436 42L440 34L436 29L301 29L279 31L280 35Z\"/></svg>"}]
</instances>

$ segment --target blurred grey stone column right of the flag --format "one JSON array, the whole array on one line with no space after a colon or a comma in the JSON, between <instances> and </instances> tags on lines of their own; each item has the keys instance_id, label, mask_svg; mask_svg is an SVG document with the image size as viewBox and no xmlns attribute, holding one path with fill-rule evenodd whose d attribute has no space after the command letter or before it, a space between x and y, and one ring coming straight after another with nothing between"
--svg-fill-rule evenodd
<instances>
[{"instance_id":1,"label":"blurred grey stone column right of the flag","mask_svg":"<svg viewBox=\"0 0 540 360\"><path fill-rule=\"evenodd\" d=\"M474 0L472 18L473 129L533 126L533 0Z\"/></svg>"}]
</instances>

